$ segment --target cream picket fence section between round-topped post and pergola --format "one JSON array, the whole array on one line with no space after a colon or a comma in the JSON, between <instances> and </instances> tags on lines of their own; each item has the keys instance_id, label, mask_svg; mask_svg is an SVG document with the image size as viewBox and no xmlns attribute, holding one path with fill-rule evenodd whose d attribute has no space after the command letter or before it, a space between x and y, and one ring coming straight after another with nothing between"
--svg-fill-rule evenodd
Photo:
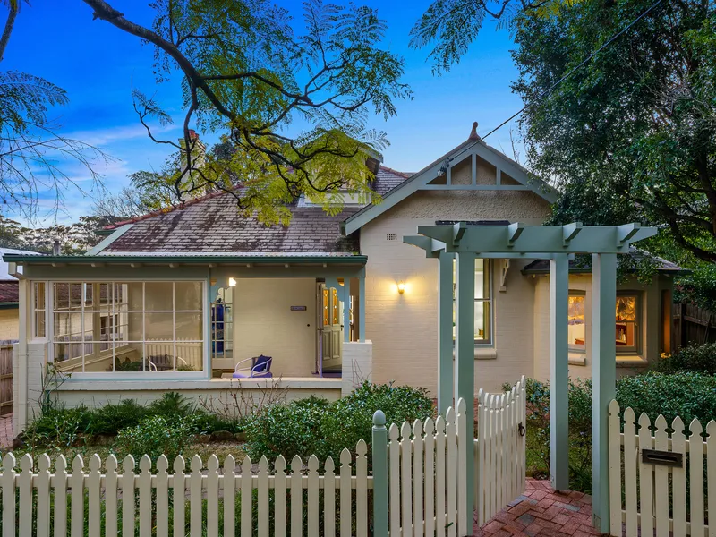
<instances>
[{"instance_id":1,"label":"cream picket fence section between round-topped post and pergola","mask_svg":"<svg viewBox=\"0 0 716 537\"><path fill-rule=\"evenodd\" d=\"M388 429L390 535L456 537L468 529L465 457L465 401L445 418L396 423Z\"/></svg>"}]
</instances>

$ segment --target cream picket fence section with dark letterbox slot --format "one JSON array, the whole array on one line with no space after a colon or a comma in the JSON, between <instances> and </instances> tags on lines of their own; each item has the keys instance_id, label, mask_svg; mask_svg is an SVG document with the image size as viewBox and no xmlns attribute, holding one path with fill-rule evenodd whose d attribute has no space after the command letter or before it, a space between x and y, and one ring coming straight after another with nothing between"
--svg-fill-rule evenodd
<instances>
[{"instance_id":1,"label":"cream picket fence section with dark letterbox slot","mask_svg":"<svg viewBox=\"0 0 716 537\"><path fill-rule=\"evenodd\" d=\"M638 422L631 408L622 417L617 401L609 404L609 527L612 535L716 534L706 525L707 514L716 516L716 422L690 423L689 437L678 416L669 424L660 415L652 422L646 414ZM622 432L623 425L623 432ZM638 427L637 427L638 425ZM669 435L669 430L673 430ZM644 450L657 450L644 461ZM666 453L663 453L666 452ZM681 463L668 454L680 454ZM650 456L649 452L646 456ZM669 460L671 459L671 460ZM708 483L704 490L704 477ZM688 478L688 479L687 479ZM688 482L688 487L686 483ZM706 492L708 491L708 499ZM623 492L623 495L622 495Z\"/></svg>"}]
</instances>

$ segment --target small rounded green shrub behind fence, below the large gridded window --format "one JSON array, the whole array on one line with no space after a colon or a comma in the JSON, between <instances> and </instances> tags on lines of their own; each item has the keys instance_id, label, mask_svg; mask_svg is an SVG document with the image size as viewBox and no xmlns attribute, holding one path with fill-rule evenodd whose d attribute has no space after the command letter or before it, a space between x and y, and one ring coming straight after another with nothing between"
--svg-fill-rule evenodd
<instances>
[{"instance_id":1,"label":"small rounded green shrub behind fence, below the large gridded window","mask_svg":"<svg viewBox=\"0 0 716 537\"><path fill-rule=\"evenodd\" d=\"M194 441L196 424L191 417L181 420L169 420L165 416L149 416L139 425L120 430L116 438L116 448L139 462L141 456L149 455L152 464L164 454L172 465L176 456L182 455L186 447Z\"/></svg>"}]
</instances>

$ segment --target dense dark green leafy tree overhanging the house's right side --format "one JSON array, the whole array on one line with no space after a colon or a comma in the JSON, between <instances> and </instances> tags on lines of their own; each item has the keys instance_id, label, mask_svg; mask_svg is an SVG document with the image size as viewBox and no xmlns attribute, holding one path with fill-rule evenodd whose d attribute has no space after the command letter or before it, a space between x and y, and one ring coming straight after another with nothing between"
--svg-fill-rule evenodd
<instances>
[{"instance_id":1,"label":"dense dark green leafy tree overhanging the house's right side","mask_svg":"<svg viewBox=\"0 0 716 537\"><path fill-rule=\"evenodd\" d=\"M556 219L640 219L716 262L713 4L661 4L541 98L651 4L582 3L516 21L513 88L530 103L520 119L528 159L561 187Z\"/></svg>"}]
</instances>

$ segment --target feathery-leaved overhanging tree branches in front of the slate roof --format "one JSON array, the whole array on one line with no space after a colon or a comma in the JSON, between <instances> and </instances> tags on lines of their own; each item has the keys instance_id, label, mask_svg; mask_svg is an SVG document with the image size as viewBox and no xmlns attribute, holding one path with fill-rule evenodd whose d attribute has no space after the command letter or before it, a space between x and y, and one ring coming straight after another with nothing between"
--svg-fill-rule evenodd
<instances>
[{"instance_id":1,"label":"feathery-leaved overhanging tree branches in front of the slate roof","mask_svg":"<svg viewBox=\"0 0 716 537\"><path fill-rule=\"evenodd\" d=\"M309 0L305 32L294 35L286 10L267 0L156 0L151 29L104 0L83 1L96 19L155 48L158 82L181 77L181 143L154 136L150 122L172 118L154 98L133 92L149 136L175 152L145 176L161 189L169 184L171 201L223 190L243 211L276 222L302 193L328 200L339 190L370 191L365 152L386 140L367 129L368 114L394 115L394 100L411 95L400 82L402 58L376 46L386 25L374 10ZM228 132L234 154L198 162L193 129Z\"/></svg>"}]
</instances>

